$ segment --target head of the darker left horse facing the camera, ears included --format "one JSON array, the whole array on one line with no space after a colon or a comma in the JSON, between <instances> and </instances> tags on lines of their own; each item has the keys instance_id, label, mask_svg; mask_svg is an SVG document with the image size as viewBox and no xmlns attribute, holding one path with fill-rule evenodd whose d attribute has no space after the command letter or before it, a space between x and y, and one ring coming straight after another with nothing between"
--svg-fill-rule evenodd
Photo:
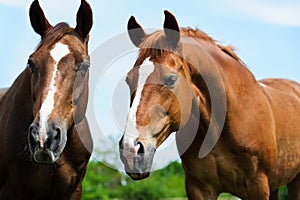
<instances>
[{"instance_id":1,"label":"head of the darker left horse facing the camera, ears included","mask_svg":"<svg viewBox=\"0 0 300 200\"><path fill-rule=\"evenodd\" d=\"M52 164L66 145L68 130L85 116L92 11L82 0L75 28L66 23L52 26L37 0L31 4L29 14L41 42L27 64L34 118L28 142L35 162Z\"/></svg>"}]
</instances>

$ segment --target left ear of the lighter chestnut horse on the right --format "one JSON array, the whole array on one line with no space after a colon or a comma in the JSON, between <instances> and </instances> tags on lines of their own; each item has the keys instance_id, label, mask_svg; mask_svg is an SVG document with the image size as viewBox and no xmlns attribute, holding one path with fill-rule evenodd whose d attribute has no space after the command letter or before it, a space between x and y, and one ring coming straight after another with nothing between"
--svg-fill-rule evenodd
<instances>
[{"instance_id":1,"label":"left ear of the lighter chestnut horse on the right","mask_svg":"<svg viewBox=\"0 0 300 200\"><path fill-rule=\"evenodd\" d=\"M132 43L139 47L142 41L144 40L146 33L142 26L137 23L133 16L130 17L127 24L127 30Z\"/></svg>"}]
</instances>

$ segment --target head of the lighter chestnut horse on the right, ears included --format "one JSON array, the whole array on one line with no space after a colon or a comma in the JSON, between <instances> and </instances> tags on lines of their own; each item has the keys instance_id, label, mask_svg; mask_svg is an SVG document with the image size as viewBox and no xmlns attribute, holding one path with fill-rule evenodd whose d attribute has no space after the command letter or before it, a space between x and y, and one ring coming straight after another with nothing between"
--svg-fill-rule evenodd
<instances>
[{"instance_id":1,"label":"head of the lighter chestnut horse on the right, ears included","mask_svg":"<svg viewBox=\"0 0 300 200\"><path fill-rule=\"evenodd\" d=\"M171 13L165 11L164 29L149 35L131 17L128 33L140 52L126 79L131 107L120 156L129 176L142 179L150 174L156 149L189 120L194 86Z\"/></svg>"}]
</instances>

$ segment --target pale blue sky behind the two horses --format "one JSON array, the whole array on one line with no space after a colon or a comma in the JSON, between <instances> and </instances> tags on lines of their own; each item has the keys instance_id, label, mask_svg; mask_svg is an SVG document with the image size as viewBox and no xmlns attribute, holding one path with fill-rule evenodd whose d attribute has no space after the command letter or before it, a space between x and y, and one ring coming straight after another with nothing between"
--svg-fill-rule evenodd
<instances>
[{"instance_id":1,"label":"pale blue sky behind the two horses","mask_svg":"<svg viewBox=\"0 0 300 200\"><path fill-rule=\"evenodd\" d=\"M31 2L0 0L0 88L12 84L26 66L28 56L40 40L29 22L28 9ZM99 45L125 33L127 20L131 15L134 15L143 27L158 29L162 27L163 11L167 9L176 16L180 26L199 28L219 43L236 47L237 55L257 79L281 77L300 82L299 0L89 0L88 2L94 12L94 26L89 44L91 55ZM66 21L75 26L79 0L40 0L40 4L53 25ZM122 59L115 62L114 69L106 70L107 80L113 77L114 70L118 70L119 66L125 75L135 59L135 54L128 54L123 63ZM92 68L96 67L101 66L92 64ZM102 83L103 85L107 83ZM126 88L126 86L120 88L122 87ZM99 89L101 90L100 86ZM110 89L104 87L103 90ZM98 96L102 93L99 91ZM94 98L98 96L96 94ZM111 102L111 98L105 99ZM125 103L122 105L126 106L128 95L125 95L124 99L126 101L124 100ZM101 110L101 107L98 109ZM103 107L102 109L98 113L111 112L111 109L105 110ZM126 119L126 114L117 117ZM122 129L114 127L115 119L109 121L105 117L102 120L107 120L104 124L110 127L107 128L110 129L108 134L120 132ZM124 120L121 121L122 127ZM117 134L114 137L119 136Z\"/></svg>"}]
</instances>

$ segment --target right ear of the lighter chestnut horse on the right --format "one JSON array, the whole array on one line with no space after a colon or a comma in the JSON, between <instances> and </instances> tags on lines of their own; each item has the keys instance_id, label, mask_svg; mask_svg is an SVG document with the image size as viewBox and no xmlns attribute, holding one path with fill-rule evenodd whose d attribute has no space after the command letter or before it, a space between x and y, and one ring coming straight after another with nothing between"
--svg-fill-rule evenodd
<instances>
[{"instance_id":1,"label":"right ear of the lighter chestnut horse on the right","mask_svg":"<svg viewBox=\"0 0 300 200\"><path fill-rule=\"evenodd\" d=\"M179 26L176 18L169 11L165 10L164 31L167 40L173 49L176 49L180 40Z\"/></svg>"}]
</instances>

